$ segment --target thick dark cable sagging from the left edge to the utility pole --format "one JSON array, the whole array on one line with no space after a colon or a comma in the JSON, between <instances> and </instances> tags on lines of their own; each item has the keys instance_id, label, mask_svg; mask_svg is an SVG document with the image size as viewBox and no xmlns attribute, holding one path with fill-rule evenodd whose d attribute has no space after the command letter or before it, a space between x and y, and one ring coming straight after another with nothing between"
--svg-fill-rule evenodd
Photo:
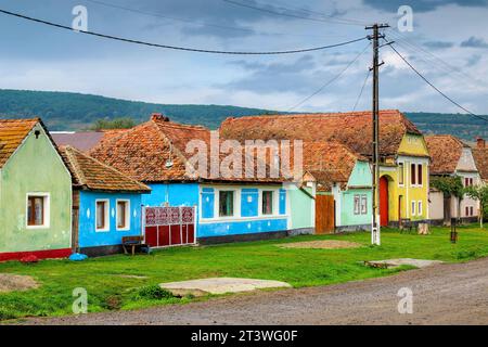
<instances>
[{"instance_id":1,"label":"thick dark cable sagging from the left edge to the utility pole","mask_svg":"<svg viewBox=\"0 0 488 347\"><path fill-rule=\"evenodd\" d=\"M15 16L15 17L23 18L23 20L27 20L27 21L31 21L31 22L36 22L36 23L40 23L40 24L44 24L44 25L49 25L49 26L52 26L52 27L61 28L61 29L66 29L66 30L69 30L69 31L77 31L77 30L75 30L72 27L66 26L66 25L56 24L56 23L48 22L48 21L43 21L43 20L34 18L34 17L30 17L30 16L27 16L27 15L24 15L24 14L15 13L15 12L10 12L10 11L5 11L5 10L1 10L0 9L0 13L7 14L7 15L11 15L11 16ZM97 36L97 37L111 39L111 40L116 40L116 41L121 41L121 42L136 43L136 44L149 46L149 47L155 47L155 48L171 49L171 50L188 51L188 52L197 52L197 53L233 54L233 55L278 55L278 54L305 53L305 52L320 51L320 50L334 48L334 47L346 46L346 44L358 42L358 41L362 41L362 40L365 39L365 37L362 37L362 38L350 40L350 41L346 41L346 42L339 42L339 43L322 46L322 47L314 47L314 48L308 48L308 49L299 49L299 50L269 51L269 52L247 52L247 51L219 51L219 50L207 50L207 49L169 46L169 44L159 44L159 43L152 43L152 42L146 42L146 41L140 41L140 40L121 38L121 37L106 35L106 34L100 34L100 33L90 31L90 30L87 30L87 31L79 30L77 33L82 33L82 34Z\"/></svg>"}]
</instances>

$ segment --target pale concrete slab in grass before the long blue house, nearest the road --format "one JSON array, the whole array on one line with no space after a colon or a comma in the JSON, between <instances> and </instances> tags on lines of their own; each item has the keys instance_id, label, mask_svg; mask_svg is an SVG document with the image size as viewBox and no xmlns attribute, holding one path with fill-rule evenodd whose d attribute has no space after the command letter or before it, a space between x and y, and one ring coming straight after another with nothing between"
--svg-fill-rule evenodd
<instances>
[{"instance_id":1,"label":"pale concrete slab in grass before the long blue house, nearest the road","mask_svg":"<svg viewBox=\"0 0 488 347\"><path fill-rule=\"evenodd\" d=\"M181 282L160 283L162 288L170 291L174 295L204 296L207 294L226 294L251 292L262 288L291 287L288 283L269 280L239 279L239 278L210 278Z\"/></svg>"}]
</instances>

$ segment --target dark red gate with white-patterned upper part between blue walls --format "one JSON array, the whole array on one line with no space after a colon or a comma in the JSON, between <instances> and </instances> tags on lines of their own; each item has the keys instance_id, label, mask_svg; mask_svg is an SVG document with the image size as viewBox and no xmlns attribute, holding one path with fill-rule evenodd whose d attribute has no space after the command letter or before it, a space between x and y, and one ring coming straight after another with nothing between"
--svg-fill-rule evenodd
<instances>
[{"instance_id":1,"label":"dark red gate with white-patterned upper part between blue walls","mask_svg":"<svg viewBox=\"0 0 488 347\"><path fill-rule=\"evenodd\" d=\"M195 207L145 207L145 243L151 247L194 244L195 216Z\"/></svg>"}]
</instances>

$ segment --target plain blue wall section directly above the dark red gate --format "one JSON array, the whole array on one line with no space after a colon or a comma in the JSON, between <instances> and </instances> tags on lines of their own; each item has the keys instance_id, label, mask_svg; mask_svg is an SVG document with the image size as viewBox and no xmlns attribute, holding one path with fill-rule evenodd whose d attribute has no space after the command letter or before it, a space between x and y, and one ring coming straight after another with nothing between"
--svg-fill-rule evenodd
<instances>
[{"instance_id":1,"label":"plain blue wall section directly above the dark red gate","mask_svg":"<svg viewBox=\"0 0 488 347\"><path fill-rule=\"evenodd\" d=\"M151 194L142 195L144 206L195 206L198 205L198 183L147 184Z\"/></svg>"}]
</instances>

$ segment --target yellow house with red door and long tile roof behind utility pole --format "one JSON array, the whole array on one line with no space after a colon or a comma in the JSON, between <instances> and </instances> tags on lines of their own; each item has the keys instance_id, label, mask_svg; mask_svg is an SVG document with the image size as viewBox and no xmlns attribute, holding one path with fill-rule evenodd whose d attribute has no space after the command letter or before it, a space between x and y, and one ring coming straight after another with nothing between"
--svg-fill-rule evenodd
<instances>
[{"instance_id":1,"label":"yellow house with red door and long tile roof behind utility pole","mask_svg":"<svg viewBox=\"0 0 488 347\"><path fill-rule=\"evenodd\" d=\"M372 157L371 112L265 115L228 118L226 139L336 141L354 153ZM422 132L398 110L380 112L381 224L428 216L429 157Z\"/></svg>"}]
</instances>

